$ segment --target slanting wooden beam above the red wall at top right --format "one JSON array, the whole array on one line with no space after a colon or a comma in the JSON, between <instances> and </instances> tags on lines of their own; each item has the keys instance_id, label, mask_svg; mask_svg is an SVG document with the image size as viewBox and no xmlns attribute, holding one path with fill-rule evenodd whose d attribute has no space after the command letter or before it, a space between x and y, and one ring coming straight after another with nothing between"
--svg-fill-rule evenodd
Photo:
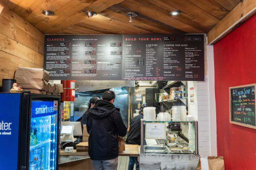
<instances>
[{"instance_id":1,"label":"slanting wooden beam above the red wall at top right","mask_svg":"<svg viewBox=\"0 0 256 170\"><path fill-rule=\"evenodd\" d=\"M240 2L226 17L207 33L207 43L215 44L234 28L250 18L256 12L255 0L244 0Z\"/></svg>"}]
</instances>

